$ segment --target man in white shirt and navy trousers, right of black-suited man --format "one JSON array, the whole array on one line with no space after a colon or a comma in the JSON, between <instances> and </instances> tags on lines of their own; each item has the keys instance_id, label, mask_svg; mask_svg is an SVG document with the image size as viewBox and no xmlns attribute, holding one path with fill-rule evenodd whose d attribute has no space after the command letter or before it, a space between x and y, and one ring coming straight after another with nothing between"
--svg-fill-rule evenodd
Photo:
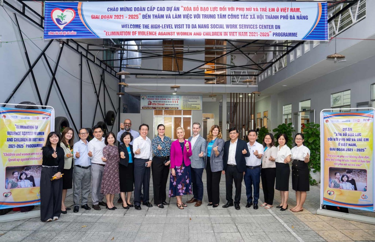
<instances>
[{"instance_id":1,"label":"man in white shirt and navy trousers, right of black-suited man","mask_svg":"<svg viewBox=\"0 0 375 242\"><path fill-rule=\"evenodd\" d=\"M244 172L243 180L246 186L246 196L248 197L248 203L246 208L250 208L253 205L252 197L252 187L254 186L254 209L258 209L258 199L259 199L259 184L260 184L260 171L262 156L264 154L263 145L258 143L258 134L254 129L249 131L248 138L248 148L250 152L249 157L245 157L246 160L246 171Z\"/></svg>"}]
</instances>

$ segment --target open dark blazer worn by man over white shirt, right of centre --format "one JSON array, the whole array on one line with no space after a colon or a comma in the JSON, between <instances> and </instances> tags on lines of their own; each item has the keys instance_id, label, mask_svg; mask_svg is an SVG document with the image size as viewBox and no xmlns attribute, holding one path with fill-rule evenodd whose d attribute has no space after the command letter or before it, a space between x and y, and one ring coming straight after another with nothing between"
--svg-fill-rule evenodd
<instances>
[{"instance_id":1,"label":"open dark blazer worn by man over white shirt, right of centre","mask_svg":"<svg viewBox=\"0 0 375 242\"><path fill-rule=\"evenodd\" d=\"M228 154L229 154L229 145L230 145L230 140L226 141L224 144L224 156L223 156L223 171L226 169L226 165L228 164ZM248 151L246 154L242 154L243 150ZM246 144L245 141L238 139L237 140L237 147L236 147L236 164L237 164L237 170L239 172L244 172L246 171L246 160L245 157L249 157L250 152L248 149L248 144Z\"/></svg>"}]
</instances>

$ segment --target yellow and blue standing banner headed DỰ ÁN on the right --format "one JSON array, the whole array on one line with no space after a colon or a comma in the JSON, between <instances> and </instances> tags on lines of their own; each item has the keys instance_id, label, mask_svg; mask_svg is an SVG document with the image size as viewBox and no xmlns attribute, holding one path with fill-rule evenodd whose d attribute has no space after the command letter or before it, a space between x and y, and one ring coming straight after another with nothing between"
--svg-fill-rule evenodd
<instances>
[{"instance_id":1,"label":"yellow and blue standing banner headed D\u1ef0 \u00c1N on the right","mask_svg":"<svg viewBox=\"0 0 375 242\"><path fill-rule=\"evenodd\" d=\"M374 211L374 111L321 113L321 202Z\"/></svg>"}]
</instances>

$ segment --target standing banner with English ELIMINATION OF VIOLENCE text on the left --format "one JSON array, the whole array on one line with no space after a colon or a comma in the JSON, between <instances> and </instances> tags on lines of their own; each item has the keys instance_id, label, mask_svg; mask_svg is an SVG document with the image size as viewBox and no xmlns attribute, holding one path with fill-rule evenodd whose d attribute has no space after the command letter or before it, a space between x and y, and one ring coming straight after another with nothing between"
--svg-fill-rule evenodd
<instances>
[{"instance_id":1,"label":"standing banner with English ELIMINATION OF VIOLENCE text on the left","mask_svg":"<svg viewBox=\"0 0 375 242\"><path fill-rule=\"evenodd\" d=\"M40 203L41 149L53 129L53 109L0 107L0 209Z\"/></svg>"}]
</instances>

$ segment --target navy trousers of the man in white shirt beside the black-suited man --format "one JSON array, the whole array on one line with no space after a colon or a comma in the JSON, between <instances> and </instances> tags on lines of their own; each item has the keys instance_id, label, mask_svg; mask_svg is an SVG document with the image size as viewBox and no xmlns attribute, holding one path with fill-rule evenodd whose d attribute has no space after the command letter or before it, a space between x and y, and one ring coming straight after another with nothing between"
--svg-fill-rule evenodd
<instances>
[{"instance_id":1,"label":"navy trousers of the man in white shirt beside the black-suited man","mask_svg":"<svg viewBox=\"0 0 375 242\"><path fill-rule=\"evenodd\" d=\"M258 203L259 199L260 171L260 167L254 169L246 168L245 176L243 177L243 180L245 181L246 196L248 197L248 202L252 202L253 200L251 186L254 186L254 204Z\"/></svg>"}]
</instances>

